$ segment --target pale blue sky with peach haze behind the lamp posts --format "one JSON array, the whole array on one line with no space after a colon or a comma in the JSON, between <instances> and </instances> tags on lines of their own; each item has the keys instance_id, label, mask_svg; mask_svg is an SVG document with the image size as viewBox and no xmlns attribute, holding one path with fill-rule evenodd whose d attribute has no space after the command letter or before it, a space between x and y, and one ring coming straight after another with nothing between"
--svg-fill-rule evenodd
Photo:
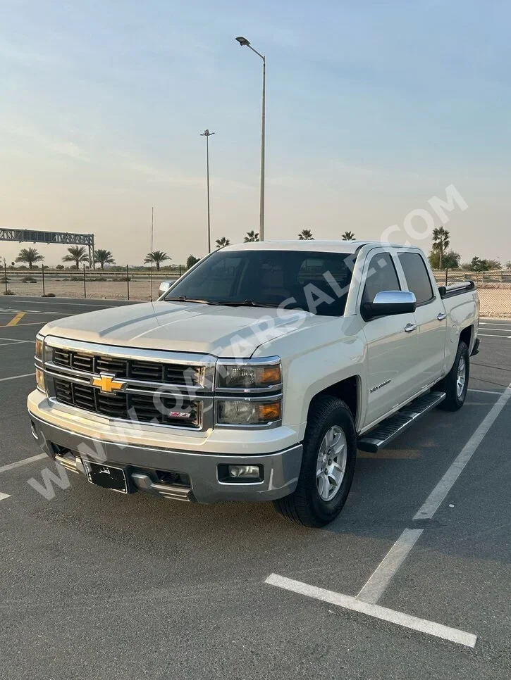
<instances>
[{"instance_id":1,"label":"pale blue sky with peach haze behind the lamp posts","mask_svg":"<svg viewBox=\"0 0 511 680\"><path fill-rule=\"evenodd\" d=\"M266 54L266 239L345 230L462 260L511 260L511 5L418 0L3 0L0 227L93 232L119 264L173 263L259 225ZM417 218L417 232L424 223ZM13 260L30 244L0 242ZM45 262L63 246L37 246Z\"/></svg>"}]
</instances>

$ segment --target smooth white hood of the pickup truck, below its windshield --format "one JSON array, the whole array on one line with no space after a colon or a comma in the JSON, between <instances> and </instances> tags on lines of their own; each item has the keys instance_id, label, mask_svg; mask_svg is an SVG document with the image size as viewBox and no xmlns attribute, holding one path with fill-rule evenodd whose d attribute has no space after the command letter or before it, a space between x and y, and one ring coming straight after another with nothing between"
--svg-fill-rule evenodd
<instances>
[{"instance_id":1,"label":"smooth white hood of the pickup truck, below its windshield","mask_svg":"<svg viewBox=\"0 0 511 680\"><path fill-rule=\"evenodd\" d=\"M301 311L300 315L300 329L329 320ZM282 316L281 310L273 308L154 302L66 317L47 324L42 334L104 345L247 358L259 345L296 329L297 313L293 313L294 324L289 316Z\"/></svg>"}]
</instances>

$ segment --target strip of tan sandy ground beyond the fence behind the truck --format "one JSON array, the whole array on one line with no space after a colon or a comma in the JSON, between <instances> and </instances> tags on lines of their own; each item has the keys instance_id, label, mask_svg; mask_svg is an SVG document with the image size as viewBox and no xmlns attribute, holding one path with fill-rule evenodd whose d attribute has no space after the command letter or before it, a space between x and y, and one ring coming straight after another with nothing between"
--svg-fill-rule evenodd
<instances>
[{"instance_id":1,"label":"strip of tan sandy ground beyond the fence behind the truck","mask_svg":"<svg viewBox=\"0 0 511 680\"><path fill-rule=\"evenodd\" d=\"M158 288L161 281L168 280L168 277L154 277L152 282L152 298L158 296ZM132 280L130 284L130 300L147 301L151 298L151 282L149 279ZM479 300L481 301L481 316L511 318L511 287L506 286L495 288L478 287ZM502 285L502 284L501 284ZM42 284L21 283L12 278L8 282L8 288L15 295L39 296L42 295ZM4 284L2 284L2 292ZM46 292L54 293L59 298L82 298L84 297L84 287L82 281L59 281L48 279L46 282ZM127 300L128 284L122 281L87 281L87 298L107 299L107 300Z\"/></svg>"}]
</instances>

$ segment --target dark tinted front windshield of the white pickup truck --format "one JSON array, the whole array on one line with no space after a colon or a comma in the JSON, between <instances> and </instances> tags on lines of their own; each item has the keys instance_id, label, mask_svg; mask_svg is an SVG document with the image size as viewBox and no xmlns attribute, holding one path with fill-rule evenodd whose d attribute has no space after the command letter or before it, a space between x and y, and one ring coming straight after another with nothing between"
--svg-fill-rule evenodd
<instances>
[{"instance_id":1,"label":"dark tinted front windshield of the white pickup truck","mask_svg":"<svg viewBox=\"0 0 511 680\"><path fill-rule=\"evenodd\" d=\"M164 297L229 306L303 309L341 316L355 256L304 251L218 251Z\"/></svg>"}]
</instances>

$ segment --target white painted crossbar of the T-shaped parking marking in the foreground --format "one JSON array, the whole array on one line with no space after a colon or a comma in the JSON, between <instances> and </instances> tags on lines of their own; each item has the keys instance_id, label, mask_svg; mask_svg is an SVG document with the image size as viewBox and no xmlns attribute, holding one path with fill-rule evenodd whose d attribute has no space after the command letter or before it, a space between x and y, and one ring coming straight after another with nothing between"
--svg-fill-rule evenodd
<instances>
[{"instance_id":1,"label":"white painted crossbar of the T-shaped parking marking in the foreground","mask_svg":"<svg viewBox=\"0 0 511 680\"><path fill-rule=\"evenodd\" d=\"M403 614L402 612L397 612L393 609L388 609L387 607L381 607L380 605L373 605L349 595L327 591L325 588L309 586L301 581L294 581L293 579L286 579L285 577L278 576L278 574L270 574L265 583L309 598L322 600L331 605L344 607L345 609L359 612L360 614L366 614L367 616L381 619L382 621L398 624L398 626L404 628L433 635L437 638L443 638L443 640L449 640L466 647L474 648L476 646L477 636L473 633L467 633L465 631L460 631L457 628L443 626L443 624L428 621L427 619L419 619L419 617Z\"/></svg>"}]
</instances>

